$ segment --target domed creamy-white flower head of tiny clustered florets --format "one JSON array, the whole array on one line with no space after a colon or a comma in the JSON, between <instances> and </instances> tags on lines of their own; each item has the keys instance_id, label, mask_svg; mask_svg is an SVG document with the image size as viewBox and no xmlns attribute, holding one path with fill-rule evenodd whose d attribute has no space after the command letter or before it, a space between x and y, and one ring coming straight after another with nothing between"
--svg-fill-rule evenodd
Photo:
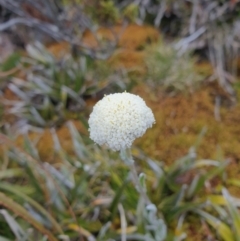
<instances>
[{"instance_id":1,"label":"domed creamy-white flower head of tiny clustered florets","mask_svg":"<svg viewBox=\"0 0 240 241\"><path fill-rule=\"evenodd\" d=\"M114 151L132 146L155 123L152 110L138 95L106 95L94 107L89 118L90 138Z\"/></svg>"}]
</instances>

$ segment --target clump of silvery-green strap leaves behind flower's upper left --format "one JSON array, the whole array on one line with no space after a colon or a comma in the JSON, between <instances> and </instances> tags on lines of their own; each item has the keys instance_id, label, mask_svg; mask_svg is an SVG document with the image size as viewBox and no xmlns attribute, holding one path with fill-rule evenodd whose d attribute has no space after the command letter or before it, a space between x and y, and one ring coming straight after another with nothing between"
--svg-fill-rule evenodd
<instances>
[{"instance_id":1,"label":"clump of silvery-green strap leaves behind flower's upper left","mask_svg":"<svg viewBox=\"0 0 240 241\"><path fill-rule=\"evenodd\" d=\"M37 126L59 124L69 112L84 110L85 98L106 89L125 89L122 75L106 62L87 56L65 55L58 60L41 44L28 46L21 58L25 80L12 78L8 87L20 101L7 102L10 113Z\"/></svg>"}]
</instances>

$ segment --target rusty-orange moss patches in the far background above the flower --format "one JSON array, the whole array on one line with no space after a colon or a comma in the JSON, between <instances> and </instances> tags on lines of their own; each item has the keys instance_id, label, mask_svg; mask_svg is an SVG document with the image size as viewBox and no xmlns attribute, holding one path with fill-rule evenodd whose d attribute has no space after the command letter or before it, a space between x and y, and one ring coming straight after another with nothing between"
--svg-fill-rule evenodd
<instances>
[{"instance_id":1,"label":"rusty-orange moss patches in the far background above the flower","mask_svg":"<svg viewBox=\"0 0 240 241\"><path fill-rule=\"evenodd\" d=\"M97 40L98 39L98 40ZM97 48L104 42L118 43L118 48L110 57L109 63L114 68L127 68L143 74L146 71L144 63L145 52L139 51L146 44L156 42L159 32L150 26L139 26L136 24L123 27L117 25L110 28L100 27L96 34L87 30L83 34L83 44L90 48ZM56 58L62 58L70 52L70 44L60 42L50 45L49 52Z\"/></svg>"}]
</instances>

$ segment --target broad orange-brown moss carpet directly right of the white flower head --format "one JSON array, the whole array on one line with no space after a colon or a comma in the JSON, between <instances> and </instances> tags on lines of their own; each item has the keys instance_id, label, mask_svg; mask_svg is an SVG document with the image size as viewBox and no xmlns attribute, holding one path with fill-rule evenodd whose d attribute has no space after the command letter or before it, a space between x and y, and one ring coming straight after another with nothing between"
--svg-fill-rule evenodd
<instances>
[{"instance_id":1,"label":"broad orange-brown moss carpet directly right of the white flower head","mask_svg":"<svg viewBox=\"0 0 240 241\"><path fill-rule=\"evenodd\" d=\"M134 92L146 100L156 118L156 125L136 143L150 156L172 163L188 152L206 126L208 131L198 149L199 158L216 158L220 147L225 157L240 160L240 104L231 109L221 107L221 121L215 120L215 91L206 87L192 95L162 94L154 100L145 85L136 87Z\"/></svg>"}]
</instances>

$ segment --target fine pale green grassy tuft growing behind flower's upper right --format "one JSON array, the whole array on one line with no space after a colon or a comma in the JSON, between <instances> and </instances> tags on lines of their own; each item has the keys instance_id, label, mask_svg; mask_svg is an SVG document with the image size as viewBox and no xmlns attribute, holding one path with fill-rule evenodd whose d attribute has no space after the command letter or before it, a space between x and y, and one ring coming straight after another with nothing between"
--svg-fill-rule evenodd
<instances>
[{"instance_id":1,"label":"fine pale green grassy tuft growing behind flower's upper right","mask_svg":"<svg viewBox=\"0 0 240 241\"><path fill-rule=\"evenodd\" d=\"M168 91L193 90L204 79L195 71L196 60L190 53L180 54L172 45L163 41L151 46L146 57L148 83Z\"/></svg>"}]
</instances>

